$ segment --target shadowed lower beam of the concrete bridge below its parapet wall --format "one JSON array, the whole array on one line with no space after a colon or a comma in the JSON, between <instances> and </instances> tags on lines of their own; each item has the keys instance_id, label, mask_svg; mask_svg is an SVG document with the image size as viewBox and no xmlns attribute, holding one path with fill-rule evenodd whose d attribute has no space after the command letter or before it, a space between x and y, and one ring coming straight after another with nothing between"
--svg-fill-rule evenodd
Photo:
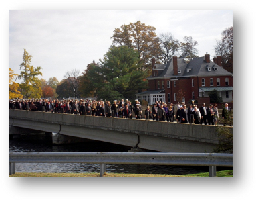
<instances>
[{"instance_id":1,"label":"shadowed lower beam of the concrete bridge below its parapet wall","mask_svg":"<svg viewBox=\"0 0 256 200\"><path fill-rule=\"evenodd\" d=\"M108 130L107 128L88 128L41 121L31 122L25 119L13 119L9 130L14 130L9 131L9 134L13 134L15 130L23 130L23 132L26 132L26 130L30 132L55 132L59 136L72 136L81 141L85 138L158 152L212 152L213 148L216 147L216 144L186 140L172 135L162 134L162 136L159 136L159 134L154 135L146 132L120 132Z\"/></svg>"}]
</instances>

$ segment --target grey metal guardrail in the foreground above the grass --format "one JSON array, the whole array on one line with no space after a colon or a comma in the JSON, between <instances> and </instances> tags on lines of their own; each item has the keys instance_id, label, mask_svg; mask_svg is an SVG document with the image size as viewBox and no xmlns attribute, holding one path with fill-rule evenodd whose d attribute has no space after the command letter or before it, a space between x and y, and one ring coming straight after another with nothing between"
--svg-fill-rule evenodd
<instances>
[{"instance_id":1,"label":"grey metal guardrail in the foreground above the grass","mask_svg":"<svg viewBox=\"0 0 256 200\"><path fill-rule=\"evenodd\" d=\"M233 154L155 153L155 152L10 152L9 174L15 174L15 162L100 164L100 176L106 164L150 164L209 166L209 176L216 176L216 166L233 167Z\"/></svg>"}]
</instances>

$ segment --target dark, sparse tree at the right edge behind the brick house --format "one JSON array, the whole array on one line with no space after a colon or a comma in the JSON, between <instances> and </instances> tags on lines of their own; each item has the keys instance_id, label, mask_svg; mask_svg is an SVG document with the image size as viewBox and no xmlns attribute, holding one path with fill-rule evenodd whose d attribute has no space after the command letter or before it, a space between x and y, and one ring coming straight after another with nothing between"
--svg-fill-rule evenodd
<instances>
[{"instance_id":1,"label":"dark, sparse tree at the right edge behind the brick house","mask_svg":"<svg viewBox=\"0 0 256 200\"><path fill-rule=\"evenodd\" d=\"M233 27L226 28L221 33L221 40L216 40L215 54L221 56L223 68L233 72Z\"/></svg>"}]
</instances>

